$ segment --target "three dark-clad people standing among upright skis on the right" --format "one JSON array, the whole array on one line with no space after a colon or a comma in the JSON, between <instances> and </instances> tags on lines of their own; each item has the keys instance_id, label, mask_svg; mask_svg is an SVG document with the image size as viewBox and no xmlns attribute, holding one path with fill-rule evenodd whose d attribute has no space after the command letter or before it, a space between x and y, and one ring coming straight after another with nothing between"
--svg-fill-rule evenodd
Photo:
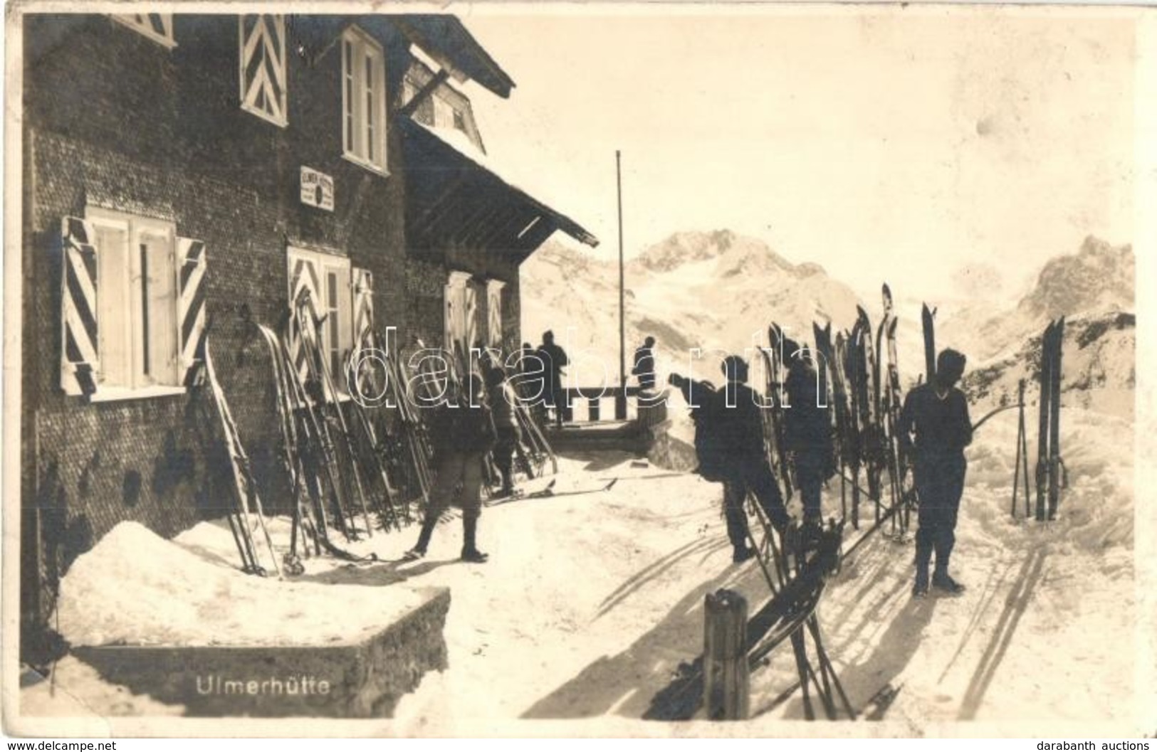
<instances>
[{"instance_id":1,"label":"three dark-clad people standing among upright skis on the right","mask_svg":"<svg viewBox=\"0 0 1157 752\"><path fill-rule=\"evenodd\" d=\"M943 351L935 376L908 392L897 423L900 451L911 458L919 502L916 530L916 574L912 595L923 598L929 585L956 595L964 585L949 574L956 543L956 523L964 492L967 463L964 449L972 442L972 422L965 395L957 388L964 375L965 356ZM678 375L671 383L684 391L690 404L700 399L717 400L712 420L718 421L710 434L712 479L723 484L723 514L736 562L756 555L749 545L750 531L744 502L751 494L764 514L782 531L789 521L765 444L761 400L747 386L749 366L743 357L729 355L721 363L725 378L722 389L702 391L692 399L692 382ZM806 348L791 353L784 383L783 443L795 469L804 510L804 526L823 521L820 494L824 482L838 472L832 447L832 423L819 399L819 379ZM697 420L698 422L698 420ZM698 444L698 442L697 442ZM702 462L702 450L700 458ZM717 458L717 459L716 459ZM935 554L935 567L929 573Z\"/></svg>"}]
</instances>

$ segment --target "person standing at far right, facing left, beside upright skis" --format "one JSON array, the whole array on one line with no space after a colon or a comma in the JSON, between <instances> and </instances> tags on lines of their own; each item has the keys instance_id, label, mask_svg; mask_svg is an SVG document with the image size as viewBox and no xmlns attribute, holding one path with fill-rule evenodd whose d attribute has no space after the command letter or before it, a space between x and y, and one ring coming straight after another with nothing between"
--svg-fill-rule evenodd
<instances>
[{"instance_id":1,"label":"person standing at far right, facing left, beside upright skis","mask_svg":"<svg viewBox=\"0 0 1157 752\"><path fill-rule=\"evenodd\" d=\"M916 581L912 588L916 598L928 595L928 565L934 551L936 569L931 585L950 594L964 591L964 585L948 573L967 470L964 448L972 443L968 401L964 392L956 388L964 375L964 364L963 354L953 349L943 351L936 361L933 381L908 392L897 426L901 447L913 459L920 499Z\"/></svg>"}]
</instances>

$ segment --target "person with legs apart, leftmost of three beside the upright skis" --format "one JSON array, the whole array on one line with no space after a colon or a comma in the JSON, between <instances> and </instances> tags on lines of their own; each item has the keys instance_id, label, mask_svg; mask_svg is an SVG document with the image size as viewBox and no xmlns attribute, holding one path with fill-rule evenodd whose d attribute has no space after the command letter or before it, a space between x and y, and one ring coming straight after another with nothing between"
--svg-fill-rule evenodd
<instances>
[{"instance_id":1,"label":"person with legs apart, leftmost of three beside the upright skis","mask_svg":"<svg viewBox=\"0 0 1157 752\"><path fill-rule=\"evenodd\" d=\"M762 408L759 397L747 386L747 363L738 355L729 355L722 369L727 385L716 392L716 398L725 400L717 433L720 454L728 458L723 471L723 515L735 550L732 560L740 562L756 555L756 550L747 546L747 515L743 507L747 493L756 495L776 530L787 526L788 513L767 462Z\"/></svg>"}]
</instances>

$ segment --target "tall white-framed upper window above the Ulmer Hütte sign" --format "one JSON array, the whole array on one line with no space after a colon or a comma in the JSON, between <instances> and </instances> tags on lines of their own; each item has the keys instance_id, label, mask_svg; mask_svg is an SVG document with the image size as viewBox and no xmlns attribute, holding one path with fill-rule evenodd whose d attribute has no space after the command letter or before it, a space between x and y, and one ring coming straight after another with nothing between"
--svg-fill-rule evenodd
<instances>
[{"instance_id":1,"label":"tall white-framed upper window above the Ulmer H\u00fctte sign","mask_svg":"<svg viewBox=\"0 0 1157 752\"><path fill-rule=\"evenodd\" d=\"M385 58L355 27L341 36L341 143L347 158L385 172Z\"/></svg>"}]
</instances>

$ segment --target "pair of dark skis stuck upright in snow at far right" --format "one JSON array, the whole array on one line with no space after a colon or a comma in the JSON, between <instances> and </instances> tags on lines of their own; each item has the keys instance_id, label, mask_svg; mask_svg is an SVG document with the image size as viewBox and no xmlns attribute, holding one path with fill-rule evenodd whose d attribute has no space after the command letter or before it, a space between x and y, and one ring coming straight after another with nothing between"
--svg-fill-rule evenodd
<instances>
[{"instance_id":1,"label":"pair of dark skis stuck upright in snow at far right","mask_svg":"<svg viewBox=\"0 0 1157 752\"><path fill-rule=\"evenodd\" d=\"M1056 518L1064 485L1061 459L1061 346L1064 317L1049 322L1040 345L1040 433L1037 440L1037 521Z\"/></svg>"}]
</instances>

